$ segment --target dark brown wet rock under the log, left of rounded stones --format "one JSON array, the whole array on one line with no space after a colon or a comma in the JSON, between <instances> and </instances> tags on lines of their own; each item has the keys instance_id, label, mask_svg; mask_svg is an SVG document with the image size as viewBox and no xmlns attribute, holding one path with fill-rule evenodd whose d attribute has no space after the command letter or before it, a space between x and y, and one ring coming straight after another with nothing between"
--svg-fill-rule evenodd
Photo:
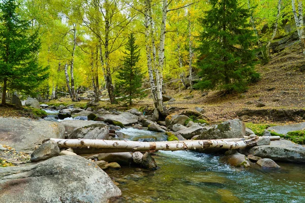
<instances>
[{"instance_id":1,"label":"dark brown wet rock under the log, left of rounded stones","mask_svg":"<svg viewBox=\"0 0 305 203\"><path fill-rule=\"evenodd\" d=\"M98 155L99 161L117 162L120 165L129 165L132 162L132 154L130 152L120 153L103 153Z\"/></svg>"}]
</instances>

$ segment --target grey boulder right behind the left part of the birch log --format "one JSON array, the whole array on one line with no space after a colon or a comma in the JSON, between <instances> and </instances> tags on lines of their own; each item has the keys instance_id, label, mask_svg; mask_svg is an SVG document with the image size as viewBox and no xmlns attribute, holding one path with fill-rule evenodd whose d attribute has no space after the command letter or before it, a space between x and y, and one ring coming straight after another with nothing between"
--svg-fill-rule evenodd
<instances>
[{"instance_id":1,"label":"grey boulder right behind the left part of the birch log","mask_svg":"<svg viewBox=\"0 0 305 203\"><path fill-rule=\"evenodd\" d=\"M76 128L71 134L67 136L67 139L99 139L108 140L109 127L103 123L95 123Z\"/></svg>"}]
</instances>

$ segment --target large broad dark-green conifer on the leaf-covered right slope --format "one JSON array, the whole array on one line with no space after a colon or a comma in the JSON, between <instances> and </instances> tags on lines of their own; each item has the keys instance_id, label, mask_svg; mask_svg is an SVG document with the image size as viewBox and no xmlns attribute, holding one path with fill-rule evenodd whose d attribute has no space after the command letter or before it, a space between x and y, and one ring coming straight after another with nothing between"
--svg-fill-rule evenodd
<instances>
[{"instance_id":1,"label":"large broad dark-green conifer on the leaf-covered right slope","mask_svg":"<svg viewBox=\"0 0 305 203\"><path fill-rule=\"evenodd\" d=\"M226 93L244 91L248 82L259 79L254 70L255 38L249 22L250 10L237 0L210 0L211 9L200 19L201 89L221 89Z\"/></svg>"}]
</instances>

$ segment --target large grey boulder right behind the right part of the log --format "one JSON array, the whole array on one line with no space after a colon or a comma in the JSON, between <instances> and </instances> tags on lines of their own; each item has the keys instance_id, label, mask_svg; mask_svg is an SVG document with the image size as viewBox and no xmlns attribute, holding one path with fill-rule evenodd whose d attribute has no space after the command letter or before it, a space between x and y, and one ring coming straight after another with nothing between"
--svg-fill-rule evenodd
<instances>
[{"instance_id":1,"label":"large grey boulder right behind the right part of the log","mask_svg":"<svg viewBox=\"0 0 305 203\"><path fill-rule=\"evenodd\" d=\"M239 119L225 121L218 125L206 127L199 136L199 140L214 140L227 138L243 138L246 133L245 123Z\"/></svg>"}]
</instances>

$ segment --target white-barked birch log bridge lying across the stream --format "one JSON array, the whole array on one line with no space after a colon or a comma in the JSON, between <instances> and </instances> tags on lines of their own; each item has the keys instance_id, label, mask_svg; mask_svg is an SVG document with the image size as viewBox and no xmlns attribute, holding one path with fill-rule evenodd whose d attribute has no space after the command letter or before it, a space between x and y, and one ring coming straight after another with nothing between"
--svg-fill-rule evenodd
<instances>
[{"instance_id":1,"label":"white-barked birch log bridge lying across the stream","mask_svg":"<svg viewBox=\"0 0 305 203\"><path fill-rule=\"evenodd\" d=\"M136 151L177 151L196 150L205 148L245 149L254 147L261 139L279 140L280 137L256 137L245 139L222 140L190 140L171 142L136 142L113 140L89 140L89 139L54 139L60 148L73 148L76 154L111 153L111 152L136 152Z\"/></svg>"}]
</instances>

